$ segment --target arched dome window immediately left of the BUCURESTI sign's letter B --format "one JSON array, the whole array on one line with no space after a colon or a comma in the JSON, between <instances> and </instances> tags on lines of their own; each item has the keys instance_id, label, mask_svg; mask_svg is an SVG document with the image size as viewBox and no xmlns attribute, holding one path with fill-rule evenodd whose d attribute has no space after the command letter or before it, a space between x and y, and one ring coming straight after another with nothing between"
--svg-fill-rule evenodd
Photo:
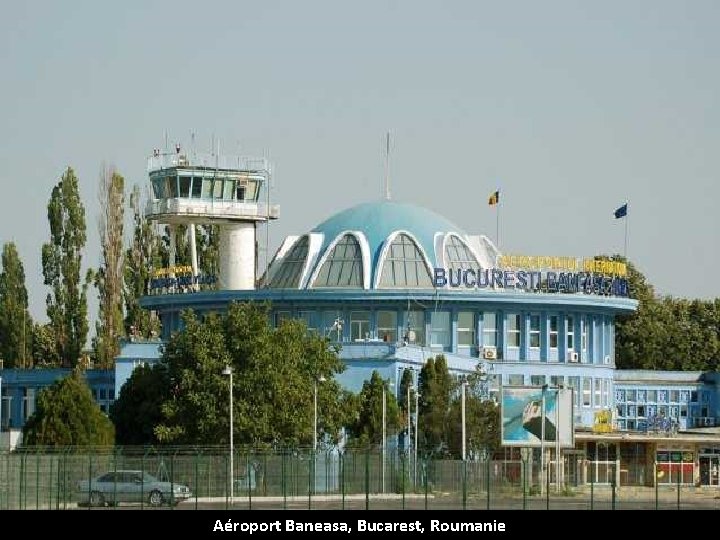
<instances>
[{"instance_id":1,"label":"arched dome window immediately left of the BUCURESTI sign's letter B","mask_svg":"<svg viewBox=\"0 0 720 540\"><path fill-rule=\"evenodd\" d=\"M381 289L432 288L422 252L407 234L398 234L388 246L380 274Z\"/></svg>"}]
</instances>

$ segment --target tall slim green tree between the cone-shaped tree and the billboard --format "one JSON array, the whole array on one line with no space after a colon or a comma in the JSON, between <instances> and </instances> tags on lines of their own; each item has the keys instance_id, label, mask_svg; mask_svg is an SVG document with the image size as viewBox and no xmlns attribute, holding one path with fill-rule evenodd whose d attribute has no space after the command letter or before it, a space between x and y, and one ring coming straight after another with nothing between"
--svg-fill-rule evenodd
<instances>
[{"instance_id":1,"label":"tall slim green tree between the cone-shaped tree and the billboard","mask_svg":"<svg viewBox=\"0 0 720 540\"><path fill-rule=\"evenodd\" d=\"M445 356L429 358L420 371L419 409L420 430L418 444L431 454L447 450L450 392L453 380Z\"/></svg>"}]
</instances>

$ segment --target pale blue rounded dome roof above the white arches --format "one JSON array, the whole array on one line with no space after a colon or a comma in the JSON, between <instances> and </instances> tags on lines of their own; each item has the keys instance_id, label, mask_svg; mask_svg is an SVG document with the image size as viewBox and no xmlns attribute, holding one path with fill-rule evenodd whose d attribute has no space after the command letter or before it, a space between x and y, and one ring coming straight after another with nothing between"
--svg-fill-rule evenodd
<instances>
[{"instance_id":1,"label":"pale blue rounded dome roof above the white arches","mask_svg":"<svg viewBox=\"0 0 720 540\"><path fill-rule=\"evenodd\" d=\"M323 233L321 252L343 231L362 231L367 238L372 267L375 268L383 242L395 231L407 231L420 243L420 246L435 263L435 233L466 233L457 225L432 210L408 203L379 201L358 204L338 212L326 219L312 232Z\"/></svg>"}]
</instances>

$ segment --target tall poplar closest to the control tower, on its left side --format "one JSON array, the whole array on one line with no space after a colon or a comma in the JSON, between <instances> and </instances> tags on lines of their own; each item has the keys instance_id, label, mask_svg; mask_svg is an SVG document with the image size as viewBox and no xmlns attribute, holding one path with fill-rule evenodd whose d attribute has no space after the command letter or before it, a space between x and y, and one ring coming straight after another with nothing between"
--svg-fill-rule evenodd
<instances>
[{"instance_id":1,"label":"tall poplar closest to the control tower, on its left side","mask_svg":"<svg viewBox=\"0 0 720 540\"><path fill-rule=\"evenodd\" d=\"M160 253L153 227L143 214L142 197L137 184L130 194L130 210L133 239L125 253L125 332L148 338L160 332L160 321L140 307L140 297L147 292L153 267L160 266Z\"/></svg>"}]
</instances>

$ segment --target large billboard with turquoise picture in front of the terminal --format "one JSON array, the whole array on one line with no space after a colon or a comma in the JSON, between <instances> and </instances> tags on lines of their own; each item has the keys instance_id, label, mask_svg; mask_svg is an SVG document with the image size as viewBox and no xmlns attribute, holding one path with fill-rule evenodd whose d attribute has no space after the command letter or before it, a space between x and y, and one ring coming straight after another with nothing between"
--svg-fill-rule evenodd
<instances>
[{"instance_id":1,"label":"large billboard with turquoise picture in front of the terminal","mask_svg":"<svg viewBox=\"0 0 720 540\"><path fill-rule=\"evenodd\" d=\"M575 446L572 389L503 387L500 402L503 446L539 447L543 435L546 445Z\"/></svg>"}]
</instances>

